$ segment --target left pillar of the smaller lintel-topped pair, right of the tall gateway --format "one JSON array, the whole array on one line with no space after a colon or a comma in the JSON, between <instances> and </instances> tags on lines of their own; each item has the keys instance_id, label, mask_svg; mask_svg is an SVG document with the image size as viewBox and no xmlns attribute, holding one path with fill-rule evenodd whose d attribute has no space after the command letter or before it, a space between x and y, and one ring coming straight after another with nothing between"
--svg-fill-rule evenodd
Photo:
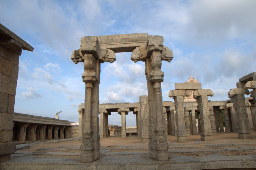
<instances>
[{"instance_id":1,"label":"left pillar of the smaller lintel-topped pair, right of the tall gateway","mask_svg":"<svg viewBox=\"0 0 256 170\"><path fill-rule=\"evenodd\" d=\"M170 90L169 92L169 97L174 99L177 114L177 142L187 142L185 113L183 106L184 96L189 96L189 92L187 90Z\"/></svg>"}]
</instances>

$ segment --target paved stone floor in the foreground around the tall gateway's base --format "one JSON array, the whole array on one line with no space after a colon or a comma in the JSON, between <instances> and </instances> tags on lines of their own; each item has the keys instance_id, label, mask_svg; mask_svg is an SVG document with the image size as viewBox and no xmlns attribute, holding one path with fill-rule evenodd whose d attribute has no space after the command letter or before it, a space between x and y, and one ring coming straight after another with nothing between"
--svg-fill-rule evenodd
<instances>
[{"instance_id":1,"label":"paved stone floor in the foreground around the tall gateway's base","mask_svg":"<svg viewBox=\"0 0 256 170\"><path fill-rule=\"evenodd\" d=\"M256 139L169 142L170 159L164 162L148 157L148 144L101 146L101 159L92 163L79 162L79 148L77 142L59 142L54 148L40 148L39 143L26 145L25 149L16 150L0 169L256 169Z\"/></svg>"}]
</instances>

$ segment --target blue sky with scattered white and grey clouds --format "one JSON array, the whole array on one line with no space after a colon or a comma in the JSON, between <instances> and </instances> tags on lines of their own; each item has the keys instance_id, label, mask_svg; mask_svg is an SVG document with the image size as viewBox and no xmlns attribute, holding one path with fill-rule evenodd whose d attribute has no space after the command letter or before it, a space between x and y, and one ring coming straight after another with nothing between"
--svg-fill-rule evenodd
<instances>
[{"instance_id":1,"label":"blue sky with scattered white and grey clouds","mask_svg":"<svg viewBox=\"0 0 256 170\"><path fill-rule=\"evenodd\" d=\"M84 102L83 64L70 59L83 36L148 33L173 51L162 62L163 100L174 83L193 76L212 89L209 100L228 100L239 78L256 71L255 0L1 0L0 23L34 47L19 63L14 112L78 122ZM145 63L116 53L101 64L100 103L138 102L147 95ZM136 126L136 116L126 117ZM112 113L109 124L121 125Z\"/></svg>"}]
</instances>

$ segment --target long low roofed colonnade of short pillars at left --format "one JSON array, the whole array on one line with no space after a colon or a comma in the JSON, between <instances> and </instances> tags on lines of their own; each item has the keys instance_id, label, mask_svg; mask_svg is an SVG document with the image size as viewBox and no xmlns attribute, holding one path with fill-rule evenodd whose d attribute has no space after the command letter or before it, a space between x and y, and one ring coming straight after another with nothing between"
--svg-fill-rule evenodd
<instances>
[{"instance_id":1,"label":"long low roofed colonnade of short pillars at left","mask_svg":"<svg viewBox=\"0 0 256 170\"><path fill-rule=\"evenodd\" d=\"M54 118L14 113L12 140L18 143L71 137L70 122Z\"/></svg>"}]
</instances>

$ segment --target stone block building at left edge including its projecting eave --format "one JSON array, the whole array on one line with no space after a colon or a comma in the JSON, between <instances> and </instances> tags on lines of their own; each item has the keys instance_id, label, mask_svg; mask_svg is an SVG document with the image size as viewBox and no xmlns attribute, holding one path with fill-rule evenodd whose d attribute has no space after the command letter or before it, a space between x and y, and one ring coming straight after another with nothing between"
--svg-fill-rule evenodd
<instances>
[{"instance_id":1,"label":"stone block building at left edge including its projecting eave","mask_svg":"<svg viewBox=\"0 0 256 170\"><path fill-rule=\"evenodd\" d=\"M0 163L15 152L12 118L22 49L34 48L0 24Z\"/></svg>"}]
</instances>

